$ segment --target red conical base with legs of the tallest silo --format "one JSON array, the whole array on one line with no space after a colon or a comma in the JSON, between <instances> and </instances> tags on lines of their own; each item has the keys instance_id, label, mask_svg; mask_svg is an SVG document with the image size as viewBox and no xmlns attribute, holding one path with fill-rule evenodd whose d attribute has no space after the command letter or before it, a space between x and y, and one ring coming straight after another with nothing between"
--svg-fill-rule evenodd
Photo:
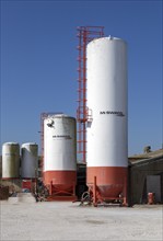
<instances>
[{"instance_id":1,"label":"red conical base with legs of the tallest silo","mask_svg":"<svg viewBox=\"0 0 163 241\"><path fill-rule=\"evenodd\" d=\"M92 167L86 169L86 182L94 203L123 200L127 205L128 169Z\"/></svg>"}]
</instances>

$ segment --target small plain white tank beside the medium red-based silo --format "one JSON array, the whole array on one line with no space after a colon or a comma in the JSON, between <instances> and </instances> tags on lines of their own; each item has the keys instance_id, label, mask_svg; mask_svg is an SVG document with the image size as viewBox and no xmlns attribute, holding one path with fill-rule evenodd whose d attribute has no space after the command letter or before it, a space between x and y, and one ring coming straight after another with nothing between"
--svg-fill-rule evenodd
<instances>
[{"instance_id":1,"label":"small plain white tank beside the medium red-based silo","mask_svg":"<svg viewBox=\"0 0 163 241\"><path fill-rule=\"evenodd\" d=\"M21 147L22 165L21 176L34 179L38 170L38 146L33 142L23 144Z\"/></svg>"}]
</instances>

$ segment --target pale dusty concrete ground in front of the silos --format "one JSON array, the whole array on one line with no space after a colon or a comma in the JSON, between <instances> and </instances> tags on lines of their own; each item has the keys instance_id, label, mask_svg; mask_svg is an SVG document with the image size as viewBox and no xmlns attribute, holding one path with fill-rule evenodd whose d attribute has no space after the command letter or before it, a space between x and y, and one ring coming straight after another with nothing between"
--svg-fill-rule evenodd
<instances>
[{"instance_id":1,"label":"pale dusty concrete ground in front of the silos","mask_svg":"<svg viewBox=\"0 0 163 241\"><path fill-rule=\"evenodd\" d=\"M163 240L163 205L95 208L27 195L0 203L1 241Z\"/></svg>"}]
</instances>

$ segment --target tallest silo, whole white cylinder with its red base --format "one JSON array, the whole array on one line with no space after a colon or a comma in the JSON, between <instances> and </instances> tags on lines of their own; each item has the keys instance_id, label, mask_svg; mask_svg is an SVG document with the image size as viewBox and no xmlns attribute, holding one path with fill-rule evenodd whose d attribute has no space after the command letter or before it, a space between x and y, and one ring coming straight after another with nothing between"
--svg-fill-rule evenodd
<instances>
[{"instance_id":1,"label":"tallest silo, whole white cylinder with its red base","mask_svg":"<svg viewBox=\"0 0 163 241\"><path fill-rule=\"evenodd\" d=\"M127 44L110 36L94 39L86 58L89 192L94 205L127 205Z\"/></svg>"}]
</instances>

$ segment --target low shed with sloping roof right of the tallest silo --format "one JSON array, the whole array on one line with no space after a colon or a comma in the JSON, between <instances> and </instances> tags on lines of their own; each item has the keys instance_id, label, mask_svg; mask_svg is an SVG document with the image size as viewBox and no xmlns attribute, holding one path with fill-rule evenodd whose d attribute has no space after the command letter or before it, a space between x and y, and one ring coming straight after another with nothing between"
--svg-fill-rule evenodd
<instances>
[{"instance_id":1,"label":"low shed with sloping roof right of the tallest silo","mask_svg":"<svg viewBox=\"0 0 163 241\"><path fill-rule=\"evenodd\" d=\"M129 158L130 203L147 204L149 193L163 204L163 149Z\"/></svg>"}]
</instances>

